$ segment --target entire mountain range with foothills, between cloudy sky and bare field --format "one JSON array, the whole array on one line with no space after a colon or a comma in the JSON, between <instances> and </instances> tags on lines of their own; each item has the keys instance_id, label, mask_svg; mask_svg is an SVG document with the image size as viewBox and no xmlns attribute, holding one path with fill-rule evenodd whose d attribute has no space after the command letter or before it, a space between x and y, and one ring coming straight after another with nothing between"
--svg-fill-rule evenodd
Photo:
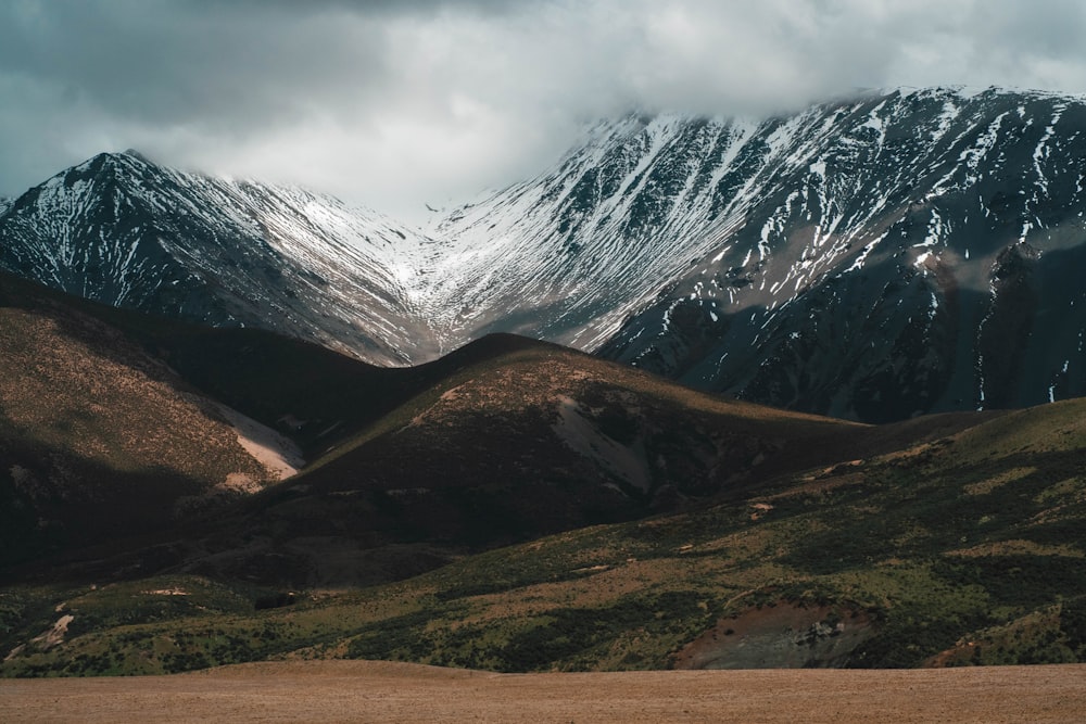
<instances>
[{"instance_id":1,"label":"entire mountain range with foothills, between cloudy sky and bare field","mask_svg":"<svg viewBox=\"0 0 1086 724\"><path fill-rule=\"evenodd\" d=\"M0 203L0 675L1086 661L1084 107L629 116L426 229Z\"/></svg>"}]
</instances>

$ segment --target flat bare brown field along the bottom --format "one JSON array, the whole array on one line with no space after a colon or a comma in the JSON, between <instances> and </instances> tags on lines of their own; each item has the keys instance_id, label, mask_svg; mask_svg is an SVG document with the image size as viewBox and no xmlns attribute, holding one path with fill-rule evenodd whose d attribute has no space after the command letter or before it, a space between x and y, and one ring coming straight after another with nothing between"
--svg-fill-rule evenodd
<instances>
[{"instance_id":1,"label":"flat bare brown field along the bottom","mask_svg":"<svg viewBox=\"0 0 1086 724\"><path fill-rule=\"evenodd\" d=\"M491 674L366 661L0 681L4 722L1083 722L1086 665Z\"/></svg>"}]
</instances>

